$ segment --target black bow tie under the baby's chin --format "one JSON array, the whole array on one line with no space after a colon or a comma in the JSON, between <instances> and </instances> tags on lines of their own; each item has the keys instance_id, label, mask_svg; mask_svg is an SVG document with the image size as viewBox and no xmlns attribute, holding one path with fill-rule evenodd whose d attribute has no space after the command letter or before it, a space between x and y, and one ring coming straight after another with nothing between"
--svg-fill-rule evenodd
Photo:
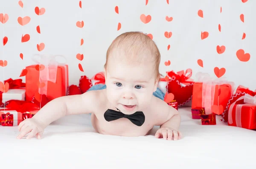
<instances>
[{"instance_id":1,"label":"black bow tie under the baby's chin","mask_svg":"<svg viewBox=\"0 0 256 169\"><path fill-rule=\"evenodd\" d=\"M128 118L133 124L137 126L142 126L142 124L145 122L145 115L143 112L135 112L131 115L127 115L122 113L120 110L116 111L116 110L108 109L104 113L104 118L106 121L113 121L119 118Z\"/></svg>"}]
</instances>

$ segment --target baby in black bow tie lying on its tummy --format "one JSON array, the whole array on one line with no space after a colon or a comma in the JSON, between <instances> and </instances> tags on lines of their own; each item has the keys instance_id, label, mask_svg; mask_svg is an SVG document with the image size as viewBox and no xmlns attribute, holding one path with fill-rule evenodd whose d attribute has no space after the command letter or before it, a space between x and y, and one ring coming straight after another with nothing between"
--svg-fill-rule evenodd
<instances>
[{"instance_id":1,"label":"baby in black bow tie lying on its tummy","mask_svg":"<svg viewBox=\"0 0 256 169\"><path fill-rule=\"evenodd\" d=\"M126 32L112 42L105 63L105 85L91 87L81 95L50 101L32 118L22 121L18 139L42 137L44 129L65 116L91 113L92 126L104 135L144 136L160 126L155 138L180 139L180 115L163 101L157 88L160 52L140 32Z\"/></svg>"}]
</instances>

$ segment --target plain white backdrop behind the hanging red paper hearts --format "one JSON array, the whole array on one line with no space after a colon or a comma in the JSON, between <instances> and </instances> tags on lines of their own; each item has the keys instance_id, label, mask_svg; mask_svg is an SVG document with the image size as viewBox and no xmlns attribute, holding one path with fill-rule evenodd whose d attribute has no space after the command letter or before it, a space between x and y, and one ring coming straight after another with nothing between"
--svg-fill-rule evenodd
<instances>
[{"instance_id":1,"label":"plain white backdrop behind the hanging red paper hearts","mask_svg":"<svg viewBox=\"0 0 256 169\"><path fill-rule=\"evenodd\" d=\"M169 70L192 68L195 73L203 71L212 77L214 68L225 68L225 77L237 85L256 89L256 1L248 0L0 0L0 14L8 14L9 20L0 23L0 38L8 37L8 42L0 44L0 62L6 60L6 67L0 66L0 80L17 79L27 65L34 64L32 54L61 54L66 56L69 65L70 85L78 85L79 78L91 78L103 70L106 51L113 39L126 31L143 31L153 35L161 53L160 73ZM169 1L169 4L167 3ZM45 8L45 13L37 15L35 7ZM119 14L115 11L119 8ZM220 9L222 8L222 12ZM198 10L203 11L203 18ZM151 15L151 21L144 24L140 15ZM244 14L244 22L240 20ZM24 26L18 17L29 16L30 22ZM166 21L166 16L173 20ZM84 21L83 28L76 26ZM117 30L118 23L121 28ZM218 29L221 25L221 31ZM36 27L40 25L41 34ZM172 32L172 37L164 33ZM201 39L201 31L209 32ZM243 33L246 37L242 40ZM28 42L21 42L22 34L29 34ZM84 44L80 45L80 39ZM39 52L37 44L43 42L45 48ZM170 49L167 50L167 46ZM217 45L224 45L225 51L218 54ZM243 49L250 54L248 62L241 62L236 51ZM23 54L23 60L20 59ZM82 61L76 54L83 54ZM202 59L204 68L197 61ZM170 60L171 65L164 63ZM79 70L81 63L84 72ZM22 79L25 80L24 77Z\"/></svg>"}]
</instances>

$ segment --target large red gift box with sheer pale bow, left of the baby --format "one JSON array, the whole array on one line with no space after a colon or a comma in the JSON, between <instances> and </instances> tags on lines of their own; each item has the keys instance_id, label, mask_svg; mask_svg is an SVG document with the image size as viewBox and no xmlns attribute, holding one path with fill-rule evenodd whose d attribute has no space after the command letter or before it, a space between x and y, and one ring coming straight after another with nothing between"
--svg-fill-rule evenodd
<instances>
[{"instance_id":1,"label":"large red gift box with sheer pale bow, left of the baby","mask_svg":"<svg viewBox=\"0 0 256 169\"><path fill-rule=\"evenodd\" d=\"M33 57L38 65L26 67L26 101L33 97L41 102L46 95L49 101L66 96L68 87L68 65L57 62L56 56L40 55L40 62Z\"/></svg>"}]
</instances>

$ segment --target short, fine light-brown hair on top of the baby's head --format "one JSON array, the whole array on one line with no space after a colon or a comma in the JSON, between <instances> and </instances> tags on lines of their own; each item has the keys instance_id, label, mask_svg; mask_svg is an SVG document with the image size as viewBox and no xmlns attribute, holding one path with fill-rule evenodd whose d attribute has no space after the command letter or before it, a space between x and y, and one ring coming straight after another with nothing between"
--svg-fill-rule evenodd
<instances>
[{"instance_id":1,"label":"short, fine light-brown hair on top of the baby's head","mask_svg":"<svg viewBox=\"0 0 256 169\"><path fill-rule=\"evenodd\" d=\"M108 48L104 68L107 68L108 59L113 49L125 54L126 59L132 63L140 63L145 61L145 59L154 62L156 78L160 78L160 52L155 42L146 34L132 31L125 32L116 37Z\"/></svg>"}]
</instances>

